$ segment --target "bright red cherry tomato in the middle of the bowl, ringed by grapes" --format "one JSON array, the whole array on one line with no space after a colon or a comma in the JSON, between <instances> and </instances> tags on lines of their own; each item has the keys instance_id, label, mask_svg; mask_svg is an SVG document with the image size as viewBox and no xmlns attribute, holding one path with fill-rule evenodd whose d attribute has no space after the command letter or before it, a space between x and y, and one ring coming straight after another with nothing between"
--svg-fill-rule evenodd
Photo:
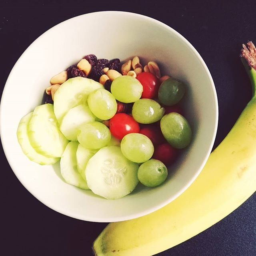
<instances>
[{"instance_id":1,"label":"bright red cherry tomato in the middle of the bowl, ringed by grapes","mask_svg":"<svg viewBox=\"0 0 256 256\"><path fill-rule=\"evenodd\" d=\"M129 133L140 132L139 124L132 116L125 113L114 115L110 119L109 129L111 134L119 140L122 140Z\"/></svg>"}]
</instances>

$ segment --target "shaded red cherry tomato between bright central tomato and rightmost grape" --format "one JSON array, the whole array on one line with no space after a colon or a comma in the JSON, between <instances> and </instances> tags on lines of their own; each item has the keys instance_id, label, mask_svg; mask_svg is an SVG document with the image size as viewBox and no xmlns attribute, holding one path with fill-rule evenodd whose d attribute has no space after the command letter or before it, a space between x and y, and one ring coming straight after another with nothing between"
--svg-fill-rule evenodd
<instances>
[{"instance_id":1,"label":"shaded red cherry tomato between bright central tomato and rightmost grape","mask_svg":"<svg viewBox=\"0 0 256 256\"><path fill-rule=\"evenodd\" d=\"M154 146L166 142L161 132L161 128L157 124L144 125L144 127L140 129L140 133L147 136L152 141Z\"/></svg>"}]
</instances>

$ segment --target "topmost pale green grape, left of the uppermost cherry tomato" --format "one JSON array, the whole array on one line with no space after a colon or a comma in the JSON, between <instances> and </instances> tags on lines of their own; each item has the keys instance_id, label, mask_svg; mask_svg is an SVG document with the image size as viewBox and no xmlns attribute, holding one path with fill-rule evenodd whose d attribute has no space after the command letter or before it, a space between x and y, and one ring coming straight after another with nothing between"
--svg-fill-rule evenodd
<instances>
[{"instance_id":1,"label":"topmost pale green grape, left of the uppermost cherry tomato","mask_svg":"<svg viewBox=\"0 0 256 256\"><path fill-rule=\"evenodd\" d=\"M111 92L120 102L131 103L141 97L143 86L132 76L119 76L112 82Z\"/></svg>"}]
</instances>

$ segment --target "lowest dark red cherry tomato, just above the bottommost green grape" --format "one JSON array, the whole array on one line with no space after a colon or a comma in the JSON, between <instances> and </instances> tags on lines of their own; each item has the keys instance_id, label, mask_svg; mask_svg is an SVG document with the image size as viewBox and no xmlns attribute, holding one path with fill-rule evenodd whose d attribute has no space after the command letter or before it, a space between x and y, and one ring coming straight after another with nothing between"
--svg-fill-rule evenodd
<instances>
[{"instance_id":1,"label":"lowest dark red cherry tomato, just above the bottommost green grape","mask_svg":"<svg viewBox=\"0 0 256 256\"><path fill-rule=\"evenodd\" d=\"M172 164L177 158L178 152L170 144L164 143L160 144L155 148L152 158L160 160L166 166Z\"/></svg>"}]
</instances>

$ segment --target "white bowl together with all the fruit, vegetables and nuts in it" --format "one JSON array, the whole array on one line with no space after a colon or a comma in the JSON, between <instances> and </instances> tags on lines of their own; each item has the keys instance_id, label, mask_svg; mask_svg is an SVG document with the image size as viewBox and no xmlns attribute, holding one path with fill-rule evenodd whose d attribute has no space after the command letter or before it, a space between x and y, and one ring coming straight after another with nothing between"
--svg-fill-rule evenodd
<instances>
[{"instance_id":1,"label":"white bowl together with all the fruit, vegetables and nuts in it","mask_svg":"<svg viewBox=\"0 0 256 256\"><path fill-rule=\"evenodd\" d=\"M85 14L42 34L10 72L0 108L22 185L94 222L138 218L180 196L206 163L217 122L214 83L194 47L127 12Z\"/></svg>"}]
</instances>

